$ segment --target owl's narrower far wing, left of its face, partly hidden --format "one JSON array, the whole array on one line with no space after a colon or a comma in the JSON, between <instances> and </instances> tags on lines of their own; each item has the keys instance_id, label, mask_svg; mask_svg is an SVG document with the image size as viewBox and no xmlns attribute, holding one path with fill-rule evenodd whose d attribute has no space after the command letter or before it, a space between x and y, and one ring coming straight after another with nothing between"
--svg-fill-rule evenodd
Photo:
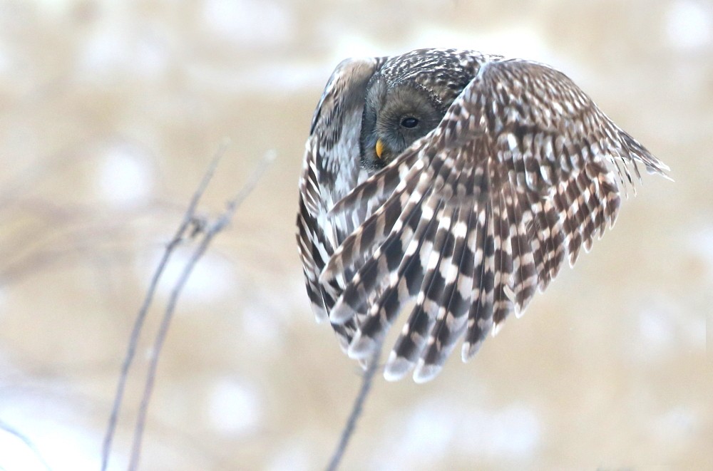
<instances>
[{"instance_id":1,"label":"owl's narrower far wing, left of its face, partly hidden","mask_svg":"<svg viewBox=\"0 0 713 471\"><path fill-rule=\"evenodd\" d=\"M334 249L356 227L352 219L335 221L329 209L366 178L359 167L364 95L366 83L385 60L347 59L337 66L314 111L305 145L299 179L297 245L307 294L318 320L327 319L327 312L344 286L342 280L320 284L319 274ZM334 325L344 348L355 328L353 320Z\"/></svg>"}]
</instances>

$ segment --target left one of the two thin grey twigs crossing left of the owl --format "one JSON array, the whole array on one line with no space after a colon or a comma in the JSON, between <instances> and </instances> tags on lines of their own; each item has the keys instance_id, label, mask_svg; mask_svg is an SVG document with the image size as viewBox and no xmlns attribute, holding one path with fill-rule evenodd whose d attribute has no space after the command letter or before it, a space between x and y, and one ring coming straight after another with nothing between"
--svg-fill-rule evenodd
<instances>
[{"instance_id":1,"label":"left one of the two thin grey twigs crossing left of the owl","mask_svg":"<svg viewBox=\"0 0 713 471\"><path fill-rule=\"evenodd\" d=\"M205 193L208 183L210 183L210 180L212 179L212 176L215 173L215 169L217 168L218 162L220 162L220 159L225 154L226 148L227 142L224 142L222 143L222 145L220 145L217 152L215 152L215 156L213 157L212 162L210 162L210 165L208 166L205 175L203 175L203 178L200 184L198 185L198 189L195 191L193 197L190 200L188 209L186 209L185 214L183 215L183 221L181 221L178 230L176 230L176 233L173 236L173 239L170 240L163 252L163 256L161 257L160 262L158 263L158 267L156 268L156 271L153 274L153 278L151 279L151 283L149 285L148 291L146 292L143 304L141 305L134 321L134 325L129 336L126 356L124 357L124 362L121 366L119 383L116 386L116 394L114 395L114 403L111 408L111 416L109 417L109 423L106 428L106 435L104 436L101 454L102 471L106 471L106 467L109 461L109 455L111 455L111 445L113 442L114 434L116 433L119 410L121 408L121 403L123 402L124 390L128 381L128 372L136 354L138 339L141 335L141 331L143 330L143 325L146 320L148 308L153 302L153 296L156 291L156 286L158 286L158 281L163 275L163 271L165 270L166 264L168 264L168 259L170 258L171 254L173 254L175 248L178 247L178 244L180 244L180 242L182 242L185 238L185 234L188 228L193 225L195 221L195 208L198 206L198 202L200 201L200 198L202 197L203 193Z\"/></svg>"}]
</instances>

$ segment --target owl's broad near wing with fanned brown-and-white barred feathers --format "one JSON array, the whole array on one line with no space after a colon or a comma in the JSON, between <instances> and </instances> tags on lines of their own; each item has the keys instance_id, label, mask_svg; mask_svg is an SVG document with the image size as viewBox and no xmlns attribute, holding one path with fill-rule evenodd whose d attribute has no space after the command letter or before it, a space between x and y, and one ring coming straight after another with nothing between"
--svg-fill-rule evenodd
<instances>
[{"instance_id":1,"label":"owl's broad near wing with fanned brown-and-white barred feathers","mask_svg":"<svg viewBox=\"0 0 713 471\"><path fill-rule=\"evenodd\" d=\"M349 355L366 358L415 299L386 378L415 366L414 379L429 381L461 337L471 358L614 224L638 165L668 170L563 73L484 63L436 129L333 209L379 205L320 278L354 271L329 313L335 323L360 316Z\"/></svg>"}]
</instances>

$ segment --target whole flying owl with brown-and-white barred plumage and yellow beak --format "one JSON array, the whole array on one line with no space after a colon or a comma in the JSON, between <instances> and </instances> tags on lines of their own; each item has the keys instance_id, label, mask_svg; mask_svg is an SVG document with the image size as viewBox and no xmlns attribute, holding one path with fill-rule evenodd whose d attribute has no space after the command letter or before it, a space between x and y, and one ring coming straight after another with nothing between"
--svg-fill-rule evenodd
<instances>
[{"instance_id":1,"label":"whole flying owl with brown-and-white barred plumage and yellow beak","mask_svg":"<svg viewBox=\"0 0 713 471\"><path fill-rule=\"evenodd\" d=\"M429 381L520 316L612 227L640 167L668 167L540 63L422 49L347 59L312 119L297 242L317 319L366 361Z\"/></svg>"}]
</instances>

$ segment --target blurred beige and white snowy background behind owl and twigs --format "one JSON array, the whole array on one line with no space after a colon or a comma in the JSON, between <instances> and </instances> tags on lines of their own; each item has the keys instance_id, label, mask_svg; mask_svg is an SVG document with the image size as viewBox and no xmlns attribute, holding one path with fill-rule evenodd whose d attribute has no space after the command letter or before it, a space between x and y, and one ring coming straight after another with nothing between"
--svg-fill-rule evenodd
<instances>
[{"instance_id":1,"label":"blurred beige and white snowy background behind owl and twigs","mask_svg":"<svg viewBox=\"0 0 713 471\"><path fill-rule=\"evenodd\" d=\"M379 376L345 469L712 469L704 0L0 0L0 424L37 452L0 430L0 468L98 469L135 313L225 137L204 214L277 161L180 299L142 469L323 467L360 370L302 286L304 140L342 58L432 46L557 66L676 182L645 175L615 230L471 363L426 385ZM148 340L111 469L128 463Z\"/></svg>"}]
</instances>

